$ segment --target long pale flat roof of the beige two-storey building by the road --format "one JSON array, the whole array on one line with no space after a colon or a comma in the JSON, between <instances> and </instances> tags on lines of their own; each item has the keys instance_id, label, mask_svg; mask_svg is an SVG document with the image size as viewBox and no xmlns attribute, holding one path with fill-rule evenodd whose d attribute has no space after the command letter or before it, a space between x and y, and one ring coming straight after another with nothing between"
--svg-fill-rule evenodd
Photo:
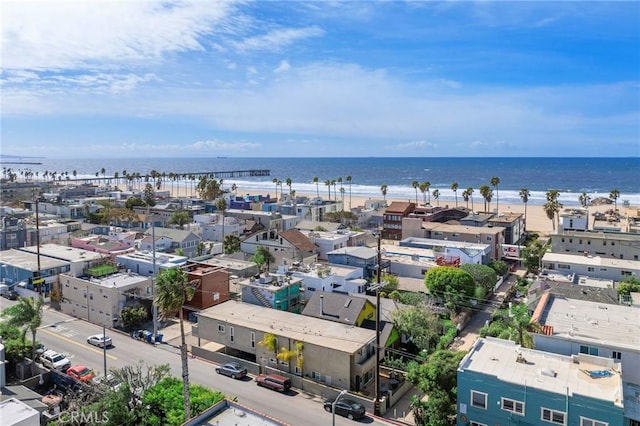
<instances>
[{"instance_id":1,"label":"long pale flat roof of the beige two-storey building by the road","mask_svg":"<svg viewBox=\"0 0 640 426\"><path fill-rule=\"evenodd\" d=\"M376 337L373 330L232 300L200 311L198 315L349 354Z\"/></svg>"}]
</instances>

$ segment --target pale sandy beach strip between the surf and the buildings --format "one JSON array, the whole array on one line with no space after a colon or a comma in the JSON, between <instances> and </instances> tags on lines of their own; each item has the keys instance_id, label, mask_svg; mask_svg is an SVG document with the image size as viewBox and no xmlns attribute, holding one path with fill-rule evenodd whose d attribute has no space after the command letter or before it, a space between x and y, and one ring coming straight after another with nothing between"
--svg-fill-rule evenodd
<instances>
[{"instance_id":1,"label":"pale sandy beach strip between the surf and the buildings","mask_svg":"<svg viewBox=\"0 0 640 426\"><path fill-rule=\"evenodd\" d=\"M162 188L162 189L171 189L171 188ZM172 195L174 197L184 197L184 196L190 196L191 194L191 188L186 188L186 187L174 187L172 188L173 192ZM228 188L225 188L228 190ZM237 194L252 194L252 195L256 195L256 191L253 191L251 189L248 188L240 188L238 187L235 191ZM301 192L296 192L296 194L298 196L307 196L307 197L316 197L315 193L301 193ZM333 198L333 197L332 197ZM340 197L338 197L338 199L340 199ZM368 200L369 198L367 197L356 197L356 196L352 196L351 197L351 207L358 207L358 206L364 206L365 202ZM379 200L382 200L382 197L376 198ZM393 199L393 198L389 198L387 197L386 199L387 204L391 204L394 201L399 201L399 202L407 202L407 201L412 201L415 202L414 200L407 200L405 199ZM419 197L418 198L418 202L421 202L422 199ZM432 201L432 205L434 206L446 206L449 205L450 207L454 207L455 206L455 202L451 202L451 201L444 201L444 200L440 200L440 203L438 204L438 202L434 202L434 200ZM466 202L464 202L463 200L458 200L458 206L463 206L466 207ZM469 204L469 206L471 206L471 204ZM482 202L482 200L476 199L474 202L474 209L476 211L481 211L484 207L484 203ZM345 194L344 196L344 208L345 210L349 209L349 195ZM492 200L491 202L491 209L495 209L496 208L496 202L495 199ZM565 207L564 209L568 209L569 207ZM574 207L575 208L575 207ZM593 226L593 213L595 212L606 212L608 210L612 210L614 208L613 204L603 204L603 205L597 205L597 206L589 206L589 220L591 223L591 226ZM564 210L563 209L563 210ZM498 206L498 211L499 213L520 213L520 214L525 214L525 205L524 203L519 203L519 204L503 204L500 203L500 205ZM618 205L618 211L623 215L623 216L637 216L638 215L638 207L622 207L620 205ZM624 222L623 222L624 223ZM526 206L526 229L527 231L531 231L531 232L537 232L541 235L549 235L551 232L553 232L553 222L547 218L547 215L545 214L543 208L541 205L532 205L530 203L527 204Z\"/></svg>"}]
</instances>

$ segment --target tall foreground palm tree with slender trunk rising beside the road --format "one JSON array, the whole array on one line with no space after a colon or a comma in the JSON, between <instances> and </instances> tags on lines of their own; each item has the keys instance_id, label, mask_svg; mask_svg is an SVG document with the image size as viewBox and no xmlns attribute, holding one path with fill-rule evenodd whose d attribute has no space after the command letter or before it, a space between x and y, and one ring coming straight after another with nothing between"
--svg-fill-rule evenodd
<instances>
[{"instance_id":1,"label":"tall foreground palm tree with slender trunk rising beside the road","mask_svg":"<svg viewBox=\"0 0 640 426\"><path fill-rule=\"evenodd\" d=\"M182 359L182 393L184 398L184 418L191 418L189 397L189 357L184 334L184 309L182 306L193 298L195 283L189 282L187 273L173 267L163 269L157 276L154 301L161 319L178 314L180 320L180 358Z\"/></svg>"}]
</instances>

